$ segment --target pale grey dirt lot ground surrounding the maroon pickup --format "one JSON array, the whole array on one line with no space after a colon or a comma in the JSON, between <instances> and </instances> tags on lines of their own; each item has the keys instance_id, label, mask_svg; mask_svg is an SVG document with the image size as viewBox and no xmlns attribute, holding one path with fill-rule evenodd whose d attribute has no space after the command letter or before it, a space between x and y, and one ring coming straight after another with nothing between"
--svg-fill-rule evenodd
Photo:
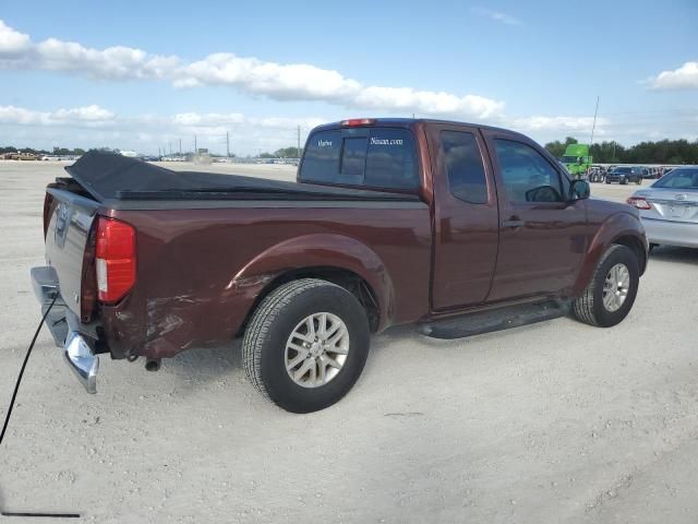
<instances>
[{"instance_id":1,"label":"pale grey dirt lot ground surrounding the maroon pickup","mask_svg":"<svg viewBox=\"0 0 698 524\"><path fill-rule=\"evenodd\" d=\"M0 163L0 415L39 320L28 270L59 167ZM660 248L611 330L558 319L455 342L392 330L349 396L308 416L255 393L237 344L159 373L103 357L88 396L44 332L0 450L0 507L107 523L693 523L697 276L698 250Z\"/></svg>"}]
</instances>

